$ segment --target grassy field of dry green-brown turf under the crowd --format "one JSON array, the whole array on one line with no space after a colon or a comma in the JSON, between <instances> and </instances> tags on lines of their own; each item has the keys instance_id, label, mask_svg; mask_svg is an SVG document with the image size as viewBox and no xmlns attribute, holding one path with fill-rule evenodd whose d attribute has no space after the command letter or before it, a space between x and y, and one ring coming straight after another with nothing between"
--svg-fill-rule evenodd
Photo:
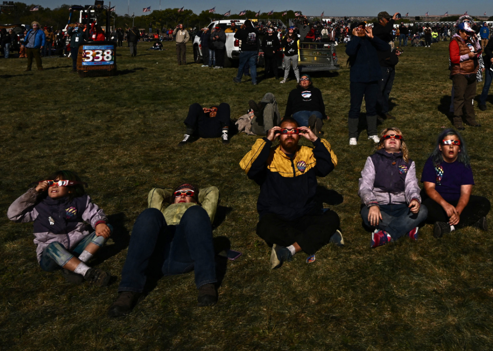
<instances>
[{"instance_id":1,"label":"grassy field of dry green-brown turf under the crowd","mask_svg":"<svg viewBox=\"0 0 493 351\"><path fill-rule=\"evenodd\" d=\"M296 255L275 271L268 266L270 249L255 234L258 187L238 165L256 137L236 135L228 146L219 139L183 148L177 143L191 103L224 101L238 118L249 99L272 92L283 114L294 76L286 84L271 78L237 85L234 68L191 64L191 46L186 66L176 65L173 43L165 43L167 51L143 50L150 46L139 43L137 58L127 48L119 50L120 74L109 78L78 78L70 73L69 59L43 59L41 72L24 72L26 59L1 60L1 350L493 349L491 229L465 228L437 240L426 225L418 242L402 238L369 248L357 187L374 143L363 131L357 146L348 145L344 46L337 47L342 69L313 74L313 80L331 117L324 135L339 159L319 185L342 197L324 206L339 214L346 246L322 248L312 264ZM447 68L447 43L405 48L391 94L397 120L379 127L404 131L419 175L436 135L451 127ZM476 108L483 127L462 133L472 159L473 193L490 199L492 102L490 97L485 112ZM11 223L5 216L31 182L57 169L77 171L117 228L91 262L116 277L109 287L73 286L58 272L41 271L32 223ZM186 274L159 280L129 316L107 318L147 192L182 181L219 188L214 236L227 237L232 249L244 253L227 263L217 305L197 308L193 274ZM491 215L488 220L493 222Z\"/></svg>"}]
</instances>

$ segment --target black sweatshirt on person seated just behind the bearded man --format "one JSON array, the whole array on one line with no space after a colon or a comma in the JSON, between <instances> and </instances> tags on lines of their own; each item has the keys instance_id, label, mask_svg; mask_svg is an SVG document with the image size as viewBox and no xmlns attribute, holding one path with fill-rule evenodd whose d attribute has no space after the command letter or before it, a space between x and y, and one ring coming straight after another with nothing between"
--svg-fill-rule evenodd
<instances>
[{"instance_id":1,"label":"black sweatshirt on person seated just behind the bearded man","mask_svg":"<svg viewBox=\"0 0 493 351\"><path fill-rule=\"evenodd\" d=\"M323 103L322 92L313 85L303 89L300 85L291 90L287 98L285 117L291 117L299 111L318 111L325 118L325 104Z\"/></svg>"}]
</instances>

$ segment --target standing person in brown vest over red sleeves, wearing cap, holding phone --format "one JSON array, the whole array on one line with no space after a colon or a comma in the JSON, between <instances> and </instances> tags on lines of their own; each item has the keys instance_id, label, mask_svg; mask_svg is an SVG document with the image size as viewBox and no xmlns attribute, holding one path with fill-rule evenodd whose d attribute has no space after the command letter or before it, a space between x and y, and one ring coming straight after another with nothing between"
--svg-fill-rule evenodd
<instances>
[{"instance_id":1,"label":"standing person in brown vest over red sleeves, wearing cap, holding phone","mask_svg":"<svg viewBox=\"0 0 493 351\"><path fill-rule=\"evenodd\" d=\"M462 107L465 107L467 123L472 127L481 127L476 122L473 105L481 46L470 22L459 23L457 29L458 33L454 34L449 44L450 75L454 87L454 126L464 130Z\"/></svg>"}]
</instances>

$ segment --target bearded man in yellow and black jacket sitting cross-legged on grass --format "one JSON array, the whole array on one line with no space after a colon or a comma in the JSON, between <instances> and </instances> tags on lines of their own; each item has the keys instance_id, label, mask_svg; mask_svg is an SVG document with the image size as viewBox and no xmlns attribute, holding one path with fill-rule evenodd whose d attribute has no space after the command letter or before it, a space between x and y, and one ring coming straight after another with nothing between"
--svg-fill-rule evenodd
<instances>
[{"instance_id":1,"label":"bearded man in yellow and black jacket sitting cross-legged on grass","mask_svg":"<svg viewBox=\"0 0 493 351\"><path fill-rule=\"evenodd\" d=\"M314 148L298 146L300 135ZM278 138L280 145L272 148ZM282 266L299 251L315 255L329 242L344 244L339 216L317 208L317 176L325 177L337 165L330 144L308 127L284 118L245 155L240 166L260 186L257 235L272 247L271 268ZM310 257L309 257L310 258ZM308 260L307 260L308 261Z\"/></svg>"}]
</instances>

